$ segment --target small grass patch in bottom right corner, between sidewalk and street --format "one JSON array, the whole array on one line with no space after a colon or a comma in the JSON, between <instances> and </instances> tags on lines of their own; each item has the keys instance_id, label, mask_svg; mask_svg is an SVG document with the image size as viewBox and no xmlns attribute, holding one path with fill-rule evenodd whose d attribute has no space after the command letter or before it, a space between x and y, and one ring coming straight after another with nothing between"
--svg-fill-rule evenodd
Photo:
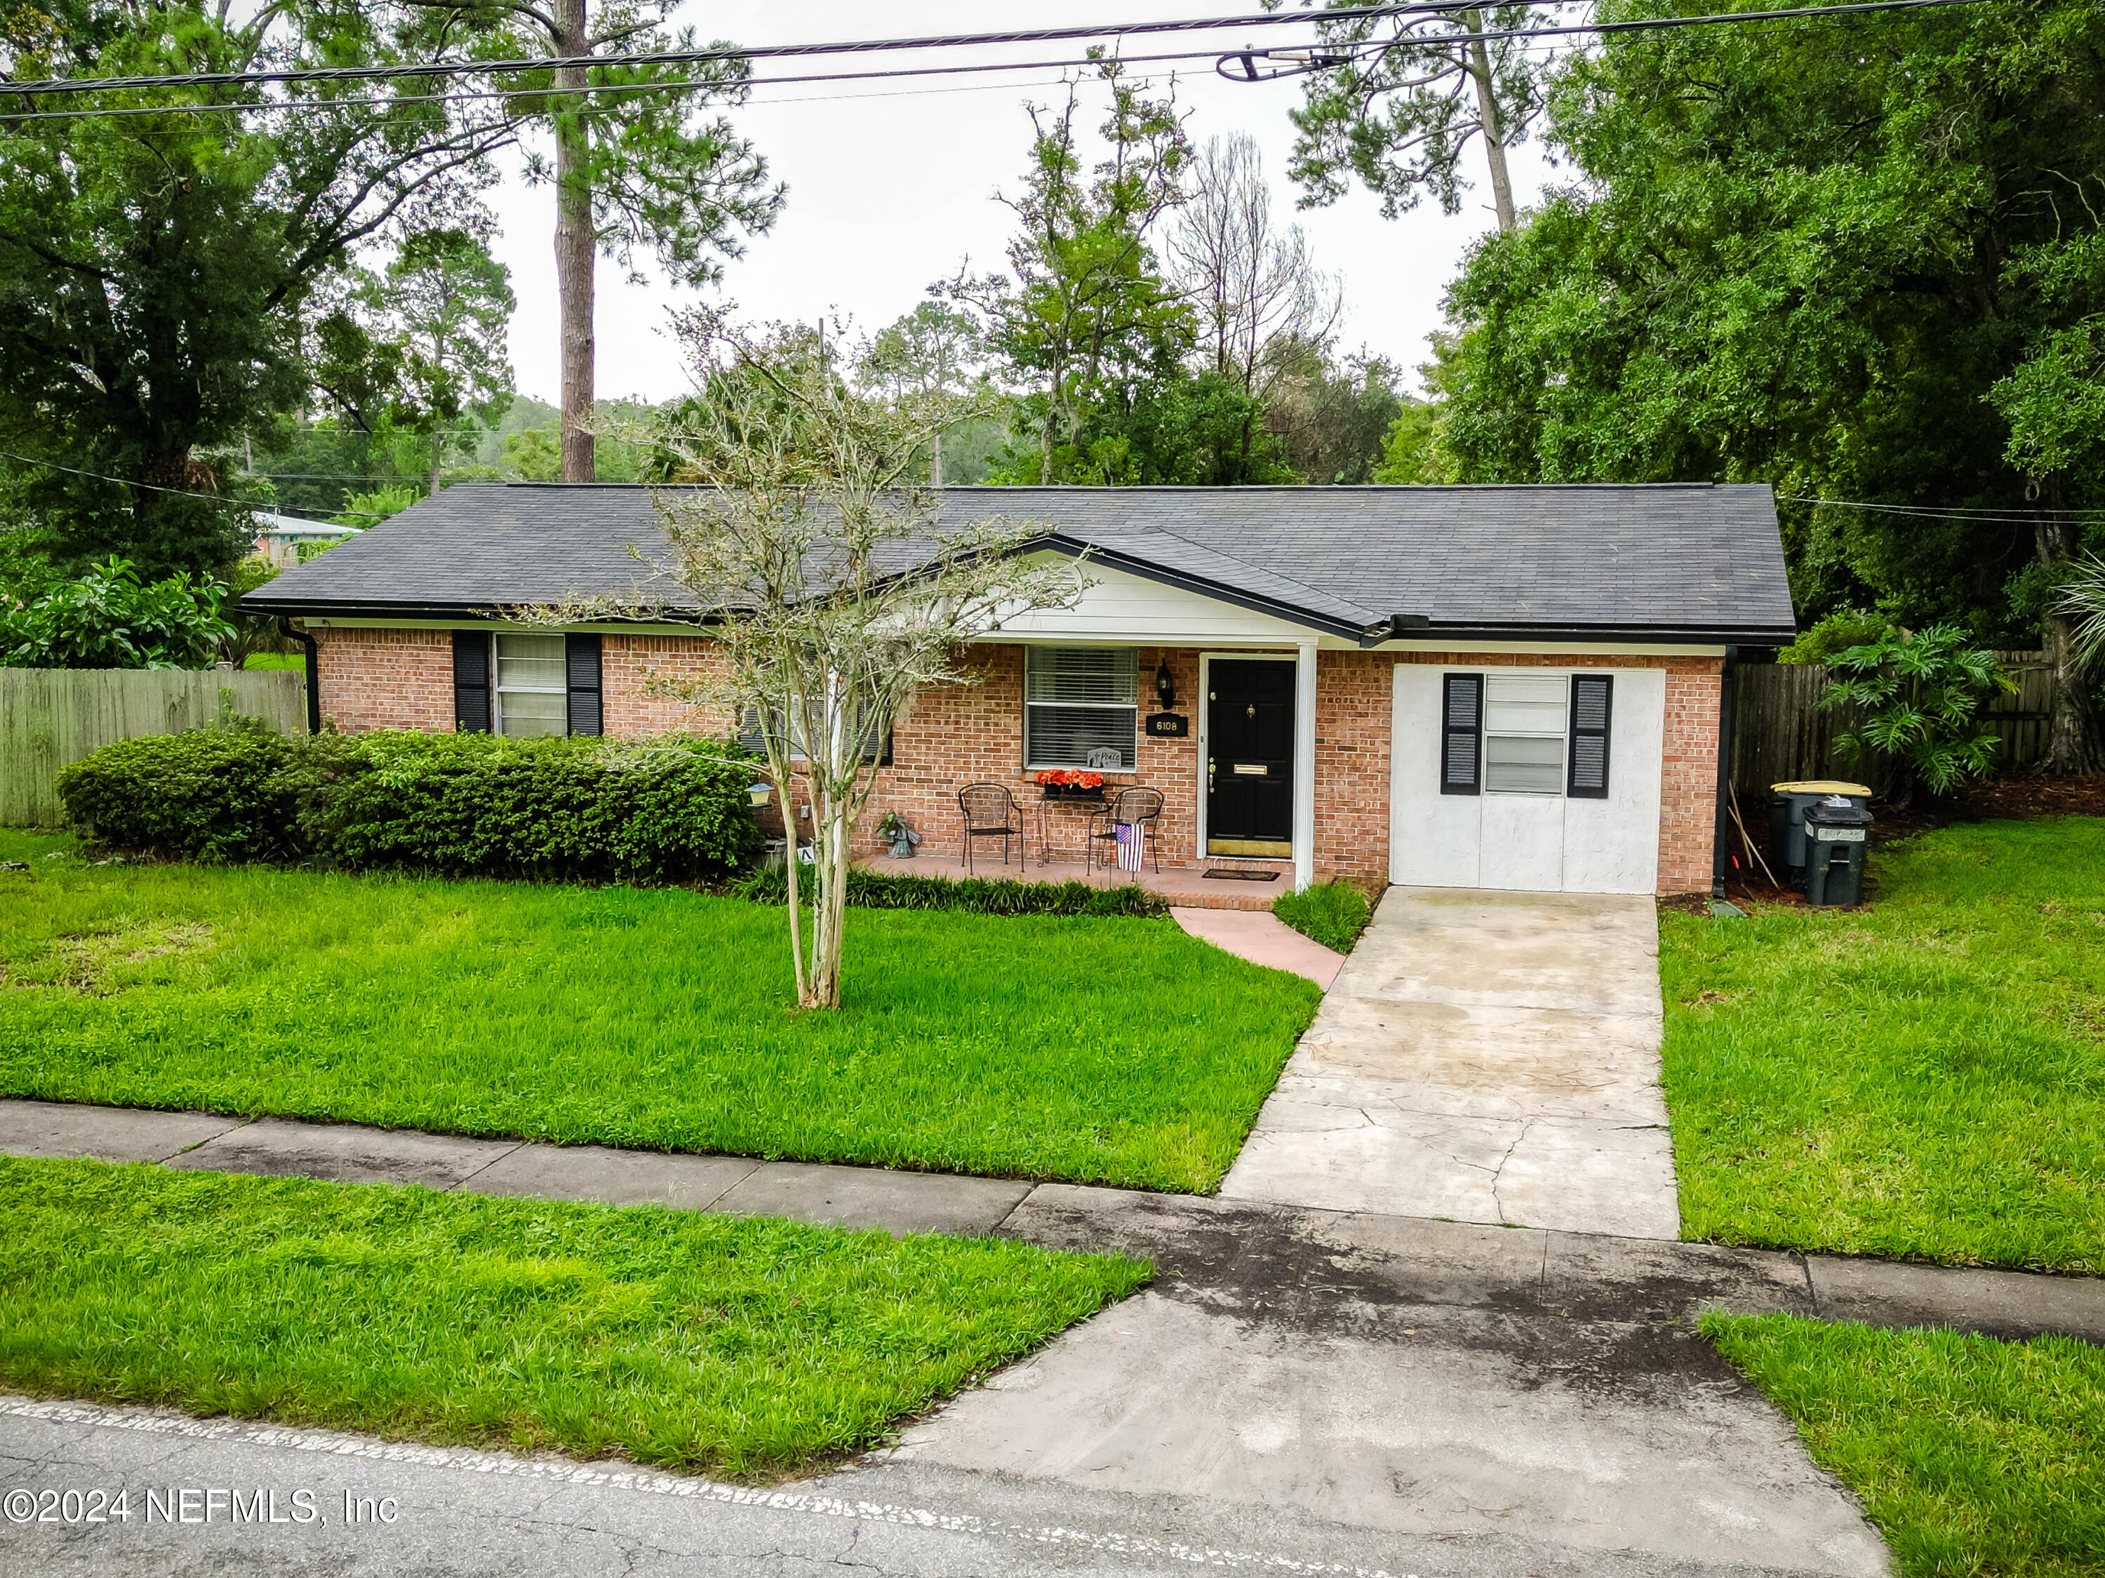
<instances>
[{"instance_id":1,"label":"small grass patch in bottom right corner, between sidewalk and street","mask_svg":"<svg viewBox=\"0 0 2105 1578\"><path fill-rule=\"evenodd\" d=\"M1863 1498L1903 1578L2105 1572L2105 1351L1791 1315L1703 1330Z\"/></svg>"}]
</instances>

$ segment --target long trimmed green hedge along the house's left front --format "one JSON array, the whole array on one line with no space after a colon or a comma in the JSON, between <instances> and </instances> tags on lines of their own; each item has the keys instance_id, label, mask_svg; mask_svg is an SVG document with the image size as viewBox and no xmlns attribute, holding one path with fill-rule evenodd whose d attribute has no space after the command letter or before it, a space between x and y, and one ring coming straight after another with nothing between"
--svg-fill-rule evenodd
<instances>
[{"instance_id":1,"label":"long trimmed green hedge along the house's left front","mask_svg":"<svg viewBox=\"0 0 2105 1578\"><path fill-rule=\"evenodd\" d=\"M760 850L751 764L722 741L200 728L59 774L99 844L453 877L682 879Z\"/></svg>"}]
</instances>

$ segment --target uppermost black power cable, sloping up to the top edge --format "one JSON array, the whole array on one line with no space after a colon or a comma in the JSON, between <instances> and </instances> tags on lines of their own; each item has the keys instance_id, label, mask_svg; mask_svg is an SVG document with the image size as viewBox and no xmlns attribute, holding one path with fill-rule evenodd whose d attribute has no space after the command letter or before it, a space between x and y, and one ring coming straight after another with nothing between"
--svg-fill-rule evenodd
<instances>
[{"instance_id":1,"label":"uppermost black power cable, sloping up to the top edge","mask_svg":"<svg viewBox=\"0 0 2105 1578\"><path fill-rule=\"evenodd\" d=\"M1459 11L1474 0L1419 0L1417 4L1356 6L1332 15L1402 17ZM1556 0L1522 0L1522 4L1556 4ZM1206 34L1227 27L1276 27L1307 23L1318 13L1267 11L1236 17L1189 17L1183 21L1114 21L1088 27L1027 27L998 34L928 34L922 38L861 38L823 44L722 44L716 48L665 48L640 55L547 55L509 61L404 61L398 65L288 65L274 72L181 72L168 76L103 76L42 78L36 82L0 82L0 93L107 93L114 88L166 86L246 86L265 82L383 82L413 76L484 76L514 72L604 69L608 65L711 65L722 61L773 61L806 55L876 55L888 50L968 48L989 44L1052 44L1074 38L1124 38L1128 34ZM1212 50L1200 50L1210 55ZM722 86L722 84L711 84Z\"/></svg>"}]
</instances>

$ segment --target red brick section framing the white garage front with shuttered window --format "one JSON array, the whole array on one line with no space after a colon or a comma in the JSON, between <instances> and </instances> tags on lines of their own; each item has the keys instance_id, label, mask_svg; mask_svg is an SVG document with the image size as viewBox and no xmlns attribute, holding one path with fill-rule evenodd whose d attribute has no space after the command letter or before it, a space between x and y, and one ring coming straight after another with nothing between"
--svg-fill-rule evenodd
<instances>
[{"instance_id":1,"label":"red brick section framing the white garage front with shuttered window","mask_svg":"<svg viewBox=\"0 0 2105 1578\"><path fill-rule=\"evenodd\" d=\"M1724 659L1537 652L1322 652L1316 659L1316 873L1389 879L1389 734L1398 663L1459 669L1665 669L1659 892L1709 892Z\"/></svg>"}]
</instances>

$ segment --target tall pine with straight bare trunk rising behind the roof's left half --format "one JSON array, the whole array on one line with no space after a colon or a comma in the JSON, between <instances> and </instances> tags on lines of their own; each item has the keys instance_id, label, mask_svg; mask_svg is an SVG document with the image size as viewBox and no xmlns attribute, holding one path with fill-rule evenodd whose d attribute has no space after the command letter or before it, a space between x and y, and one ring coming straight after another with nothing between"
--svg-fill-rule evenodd
<instances>
[{"instance_id":1,"label":"tall pine with straight bare trunk rising behind the roof's left half","mask_svg":"<svg viewBox=\"0 0 2105 1578\"><path fill-rule=\"evenodd\" d=\"M526 177L556 191L556 290L562 335L562 480L596 482L594 286L600 252L642 282L650 255L680 284L722 278L722 259L764 231L783 202L766 160L720 105L745 101L749 65L730 57L638 65L623 57L697 48L667 29L676 0L402 0L448 44L476 59L594 59L539 74L501 74L520 88L507 114L547 133L554 158L530 151ZM604 63L598 63L604 61ZM669 90L665 84L684 82ZM539 88L539 93L535 93ZM581 93L596 88L596 93Z\"/></svg>"}]
</instances>

